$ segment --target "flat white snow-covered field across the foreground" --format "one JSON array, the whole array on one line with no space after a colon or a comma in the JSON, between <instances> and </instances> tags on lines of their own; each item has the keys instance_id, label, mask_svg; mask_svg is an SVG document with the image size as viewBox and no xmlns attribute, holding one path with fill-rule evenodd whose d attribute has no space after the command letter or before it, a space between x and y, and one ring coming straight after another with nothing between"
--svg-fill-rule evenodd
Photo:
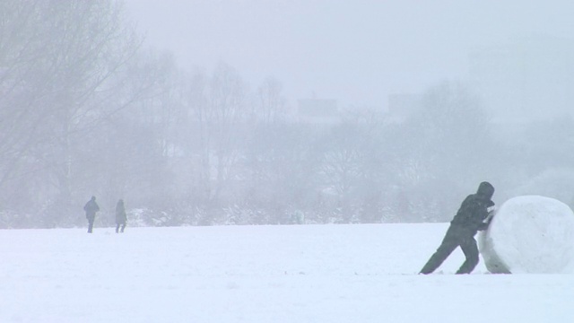
<instances>
[{"instance_id":1,"label":"flat white snow-covered field across the foreground","mask_svg":"<svg viewBox=\"0 0 574 323\"><path fill-rule=\"evenodd\" d=\"M416 275L447 224L0 231L0 322L574 322L574 275Z\"/></svg>"}]
</instances>

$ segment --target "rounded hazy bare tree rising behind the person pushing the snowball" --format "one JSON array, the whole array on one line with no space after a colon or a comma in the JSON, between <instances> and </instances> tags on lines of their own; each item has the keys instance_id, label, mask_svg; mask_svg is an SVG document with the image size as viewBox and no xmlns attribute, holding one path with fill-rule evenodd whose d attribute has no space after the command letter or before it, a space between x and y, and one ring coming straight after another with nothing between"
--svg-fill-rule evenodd
<instances>
[{"instance_id":1,"label":"rounded hazy bare tree rising behind the person pushing the snowball","mask_svg":"<svg viewBox=\"0 0 574 323\"><path fill-rule=\"evenodd\" d=\"M411 221L444 220L460 191L486 180L491 128L480 98L463 83L441 83L397 131L396 170Z\"/></svg>"}]
</instances>

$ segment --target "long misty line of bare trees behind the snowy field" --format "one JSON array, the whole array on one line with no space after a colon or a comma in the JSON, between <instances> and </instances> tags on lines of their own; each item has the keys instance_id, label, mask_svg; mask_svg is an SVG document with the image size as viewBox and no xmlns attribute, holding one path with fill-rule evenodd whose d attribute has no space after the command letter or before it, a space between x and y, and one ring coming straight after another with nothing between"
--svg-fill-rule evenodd
<instances>
[{"instance_id":1,"label":"long misty line of bare trees behind the snowy field","mask_svg":"<svg viewBox=\"0 0 574 323\"><path fill-rule=\"evenodd\" d=\"M463 83L401 121L295 113L274 77L184 71L119 1L0 2L0 228L83 225L90 196L100 225L119 198L133 223L211 225L447 221L482 180L574 196L573 122L501 139Z\"/></svg>"}]
</instances>

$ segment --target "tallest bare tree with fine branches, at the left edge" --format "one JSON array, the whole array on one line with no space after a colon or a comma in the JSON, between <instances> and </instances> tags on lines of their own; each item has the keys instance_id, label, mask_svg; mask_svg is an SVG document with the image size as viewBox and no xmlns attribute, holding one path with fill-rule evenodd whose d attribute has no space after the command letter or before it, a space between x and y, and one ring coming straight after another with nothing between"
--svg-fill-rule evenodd
<instances>
[{"instance_id":1,"label":"tallest bare tree with fine branches, at the left edge","mask_svg":"<svg viewBox=\"0 0 574 323\"><path fill-rule=\"evenodd\" d=\"M0 188L32 183L69 205L78 172L91 160L77 152L98 140L102 120L122 108L117 79L139 39L122 20L116 1L3 2L0 91L6 100L0 150ZM95 156L91 156L93 159ZM79 180L82 182L82 180ZM10 196L10 195L8 195ZM28 196L22 194L20 196ZM23 204L30 204L28 196ZM66 211L60 210L60 214Z\"/></svg>"}]
</instances>

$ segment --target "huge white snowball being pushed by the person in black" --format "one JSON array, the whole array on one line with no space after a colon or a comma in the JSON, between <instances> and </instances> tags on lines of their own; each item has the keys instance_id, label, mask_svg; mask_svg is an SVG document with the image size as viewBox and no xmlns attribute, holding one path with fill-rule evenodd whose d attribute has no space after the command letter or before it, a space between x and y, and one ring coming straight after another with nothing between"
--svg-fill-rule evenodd
<instances>
[{"instance_id":1,"label":"huge white snowball being pushed by the person in black","mask_svg":"<svg viewBox=\"0 0 574 323\"><path fill-rule=\"evenodd\" d=\"M544 196L510 198L479 235L493 274L570 273L574 269L574 213Z\"/></svg>"}]
</instances>

